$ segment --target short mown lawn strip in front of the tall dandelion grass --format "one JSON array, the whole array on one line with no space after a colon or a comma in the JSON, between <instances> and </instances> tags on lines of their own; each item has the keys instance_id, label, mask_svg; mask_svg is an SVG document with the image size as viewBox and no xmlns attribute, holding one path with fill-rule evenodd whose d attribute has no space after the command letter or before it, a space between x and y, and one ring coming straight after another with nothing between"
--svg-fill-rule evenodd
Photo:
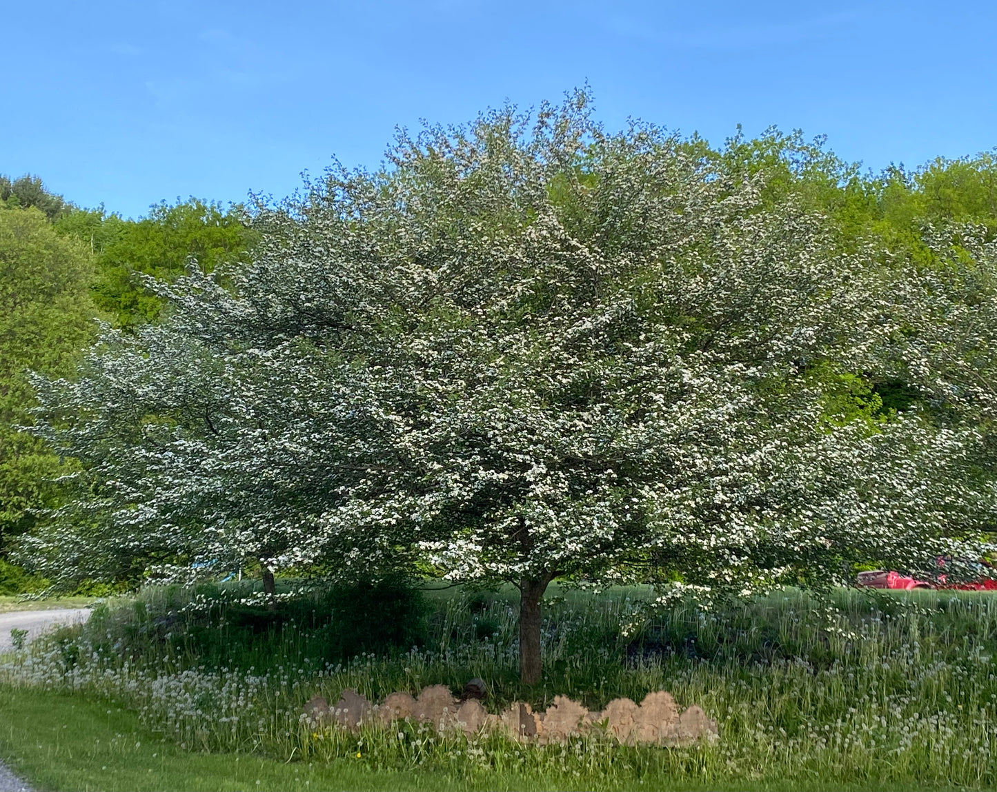
<instances>
[{"instance_id":1,"label":"short mown lawn strip in front of the tall dandelion grass","mask_svg":"<svg viewBox=\"0 0 997 792\"><path fill-rule=\"evenodd\" d=\"M0 689L0 757L40 791L102 790L879 790L819 779L707 784L688 776L617 778L492 773L459 777L431 770L373 770L358 761L278 761L253 754L185 751L144 728L134 712L83 696ZM948 787L907 786L905 789Z\"/></svg>"}]
</instances>

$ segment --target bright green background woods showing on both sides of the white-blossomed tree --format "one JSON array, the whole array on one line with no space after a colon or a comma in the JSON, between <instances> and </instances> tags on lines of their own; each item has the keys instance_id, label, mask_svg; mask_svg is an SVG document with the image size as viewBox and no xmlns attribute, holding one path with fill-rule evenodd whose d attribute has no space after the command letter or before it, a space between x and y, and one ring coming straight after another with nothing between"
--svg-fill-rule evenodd
<instances>
[{"instance_id":1,"label":"bright green background woods showing on both sides of the white-blossomed tree","mask_svg":"<svg viewBox=\"0 0 997 792\"><path fill-rule=\"evenodd\" d=\"M988 240L997 235L997 149L863 173L822 138L809 142L799 132L739 133L720 148L697 137L682 144L706 160L722 159L744 179L765 171L766 197L775 203L792 193L829 217L844 251L874 239L888 255L931 268L938 266L925 241L931 226L974 223ZM211 272L247 262L257 236L253 211L242 205L189 198L133 220L103 205L81 208L36 176L0 175L0 593L42 585L7 555L41 519L39 509L58 503L55 479L74 470L73 460L18 429L32 421L30 372L72 375L99 322L129 333L158 321L164 304L146 276L170 281L191 265ZM917 398L903 382L862 373L841 382L842 398L872 411Z\"/></svg>"}]
</instances>

